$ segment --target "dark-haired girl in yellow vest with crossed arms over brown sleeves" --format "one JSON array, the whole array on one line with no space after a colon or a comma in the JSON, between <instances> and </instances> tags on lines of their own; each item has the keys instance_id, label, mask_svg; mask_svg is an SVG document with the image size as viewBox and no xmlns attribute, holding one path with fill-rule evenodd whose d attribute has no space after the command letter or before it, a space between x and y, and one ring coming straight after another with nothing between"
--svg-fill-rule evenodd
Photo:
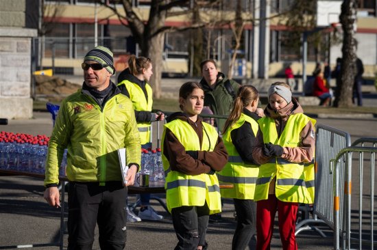
<instances>
[{"instance_id":1,"label":"dark-haired girl in yellow vest with crossed arms over brown sleeves","mask_svg":"<svg viewBox=\"0 0 377 250\"><path fill-rule=\"evenodd\" d=\"M228 153L215 127L203 122L202 85L180 87L180 109L167 117L162 134L167 208L178 244L175 249L207 249L209 214L221 212L219 181Z\"/></svg>"}]
</instances>

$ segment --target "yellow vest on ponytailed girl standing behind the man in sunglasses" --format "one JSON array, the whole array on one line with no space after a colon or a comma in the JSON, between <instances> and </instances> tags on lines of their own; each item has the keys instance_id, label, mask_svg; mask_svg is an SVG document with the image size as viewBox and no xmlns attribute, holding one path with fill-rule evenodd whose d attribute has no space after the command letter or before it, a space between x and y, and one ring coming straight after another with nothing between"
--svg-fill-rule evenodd
<instances>
[{"instance_id":1,"label":"yellow vest on ponytailed girl standing behind the man in sunglasses","mask_svg":"<svg viewBox=\"0 0 377 250\"><path fill-rule=\"evenodd\" d=\"M132 105L136 111L151 111L153 100L152 100L152 89L148 83L145 84L145 89L147 90L148 99L145 98L143 89L136 83L132 81L124 80L121 81L119 85L125 85L127 92L130 94L130 99ZM141 145L149 143L151 138L151 123L150 122L138 122L138 133L140 134Z\"/></svg>"}]
</instances>

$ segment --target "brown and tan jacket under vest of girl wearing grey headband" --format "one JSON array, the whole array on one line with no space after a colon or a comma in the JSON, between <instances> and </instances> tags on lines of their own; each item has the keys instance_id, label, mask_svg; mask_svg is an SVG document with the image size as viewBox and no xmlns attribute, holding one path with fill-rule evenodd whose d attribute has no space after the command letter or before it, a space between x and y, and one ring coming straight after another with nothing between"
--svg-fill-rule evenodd
<instances>
[{"instance_id":1,"label":"brown and tan jacket under vest of girl wearing grey headband","mask_svg":"<svg viewBox=\"0 0 377 250\"><path fill-rule=\"evenodd\" d=\"M292 98L292 101L283 109L279 111L273 111L269 105L265 109L265 115L272 117L275 120L276 130L278 131L278 136L282 134L289 115L295 113L304 113L301 105ZM292 131L297 133L299 131ZM310 163L313 161L313 156L315 152L315 128L311 122L308 122L306 126L300 131L301 142L298 147L290 148L283 147L283 154L281 158L284 158L291 163ZM263 134L258 130L256 135L255 147L252 150L254 161L260 165L265 164L269 161L269 157L263 154ZM271 181L269 187L269 193L275 193L275 180Z\"/></svg>"}]
</instances>

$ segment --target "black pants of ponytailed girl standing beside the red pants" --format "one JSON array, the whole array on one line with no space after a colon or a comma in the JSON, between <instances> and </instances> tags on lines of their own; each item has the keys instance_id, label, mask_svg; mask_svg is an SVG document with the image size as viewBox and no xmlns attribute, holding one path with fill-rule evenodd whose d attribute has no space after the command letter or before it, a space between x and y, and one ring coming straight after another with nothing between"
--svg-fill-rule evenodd
<instances>
[{"instance_id":1,"label":"black pants of ponytailed girl standing beside the red pants","mask_svg":"<svg viewBox=\"0 0 377 250\"><path fill-rule=\"evenodd\" d=\"M232 249L244 250L252 236L256 234L256 202L252 199L234 199L234 207L237 227L232 240Z\"/></svg>"}]
</instances>

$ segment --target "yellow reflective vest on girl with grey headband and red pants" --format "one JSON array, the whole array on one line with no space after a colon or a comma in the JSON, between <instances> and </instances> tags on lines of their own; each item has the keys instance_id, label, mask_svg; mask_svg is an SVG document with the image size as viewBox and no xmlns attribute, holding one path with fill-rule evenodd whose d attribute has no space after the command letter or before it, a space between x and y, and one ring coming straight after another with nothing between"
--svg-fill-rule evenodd
<instances>
[{"instance_id":1,"label":"yellow reflective vest on girl with grey headband and red pants","mask_svg":"<svg viewBox=\"0 0 377 250\"><path fill-rule=\"evenodd\" d=\"M300 145L300 133L308 122L312 122L313 126L315 124L315 120L302 113L291 115L278 138L276 124L271 117L263 117L258 120L264 143L271 142L282 147L292 148ZM278 199L283 202L313 204L314 176L313 162L291 163L283 158L272 158L268 163L260 166L254 200L268 198L269 182L276 177L275 194Z\"/></svg>"}]
</instances>

